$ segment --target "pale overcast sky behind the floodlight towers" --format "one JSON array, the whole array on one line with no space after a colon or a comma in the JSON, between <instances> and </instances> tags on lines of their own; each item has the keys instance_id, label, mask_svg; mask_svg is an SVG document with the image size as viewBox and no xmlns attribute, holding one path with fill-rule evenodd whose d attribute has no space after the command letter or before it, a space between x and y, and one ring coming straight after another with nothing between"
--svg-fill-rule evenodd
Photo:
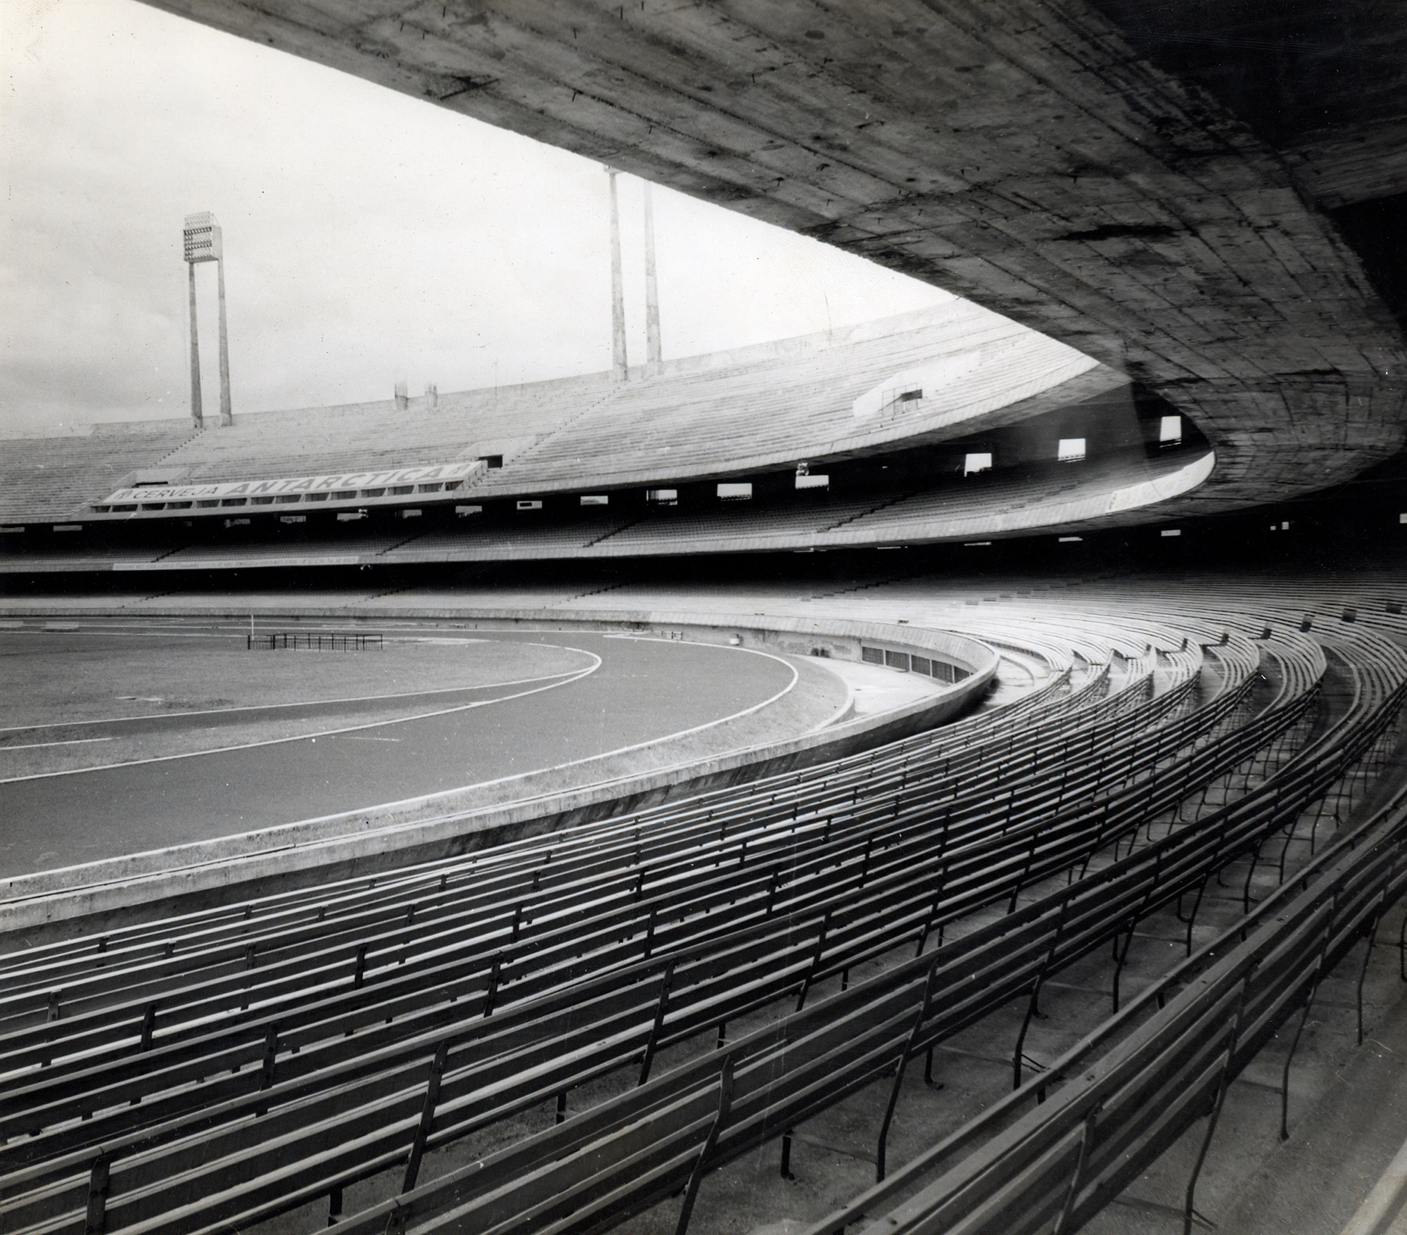
<instances>
[{"instance_id":1,"label":"pale overcast sky behind the floodlight towers","mask_svg":"<svg viewBox=\"0 0 1407 1235\"><path fill-rule=\"evenodd\" d=\"M224 228L236 414L609 367L598 163L135 0L0 0L0 429L189 414L197 210ZM620 186L636 363L640 183ZM654 210L666 357L948 298L670 190Z\"/></svg>"}]
</instances>

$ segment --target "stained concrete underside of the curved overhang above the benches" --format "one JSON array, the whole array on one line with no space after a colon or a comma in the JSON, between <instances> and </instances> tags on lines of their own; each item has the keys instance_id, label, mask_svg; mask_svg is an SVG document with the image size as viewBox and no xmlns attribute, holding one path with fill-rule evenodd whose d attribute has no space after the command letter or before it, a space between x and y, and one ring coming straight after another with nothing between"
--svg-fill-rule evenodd
<instances>
[{"instance_id":1,"label":"stained concrete underside of the curved overhang above the benches","mask_svg":"<svg viewBox=\"0 0 1407 1235\"><path fill-rule=\"evenodd\" d=\"M151 3L803 232L1085 352L1216 447L1210 480L1168 516L1324 488L1407 437L1401 329L1330 215L1407 183L1401 122L1382 111L1403 101L1400 75L1372 72L1407 28L1392 6L1354 7L1325 34L1313 6L1259 0L1179 10L1175 31L1117 0ZM1334 77L1328 34L1373 49L1369 69ZM1244 72L1225 72L1225 48ZM1323 107L1268 89L1266 48L1338 83Z\"/></svg>"}]
</instances>

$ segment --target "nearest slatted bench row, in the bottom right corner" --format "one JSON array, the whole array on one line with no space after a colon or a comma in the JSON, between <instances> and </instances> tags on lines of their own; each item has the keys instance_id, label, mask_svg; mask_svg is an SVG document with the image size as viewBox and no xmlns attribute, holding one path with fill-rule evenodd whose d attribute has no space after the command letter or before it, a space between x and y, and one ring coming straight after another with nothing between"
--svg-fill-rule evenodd
<instances>
[{"instance_id":1,"label":"nearest slatted bench row, in the bottom right corner","mask_svg":"<svg viewBox=\"0 0 1407 1235\"><path fill-rule=\"evenodd\" d=\"M1362 596L1339 585L1320 589L1320 599L1341 605ZM1401 623L1396 633L1404 634ZM1400 644L1369 644L1366 655L1362 646L1345 650L1359 677L1355 706L1377 695L1383 719L1393 717L1369 727L1359 747L1376 740L1386 757L1399 741ZM1296 1013L1303 1028L1324 976L1403 892L1407 791L1399 789L1233 930L1065 1051L1045 1077L1019 1087L808 1235L839 1235L848 1224L915 1235L958 1220L975 1235L1078 1229L1210 1115L1206 1152L1228 1083ZM1292 1058L1297 1041L1299 1032ZM1286 1077L1287 1069L1289 1062Z\"/></svg>"}]
</instances>

